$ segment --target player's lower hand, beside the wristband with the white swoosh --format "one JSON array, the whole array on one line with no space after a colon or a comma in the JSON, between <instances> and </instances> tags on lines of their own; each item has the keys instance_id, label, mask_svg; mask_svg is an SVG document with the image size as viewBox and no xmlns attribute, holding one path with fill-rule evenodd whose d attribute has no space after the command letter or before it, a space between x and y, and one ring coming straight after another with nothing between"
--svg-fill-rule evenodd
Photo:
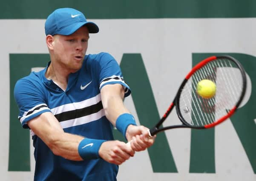
<instances>
[{"instance_id":1,"label":"player's lower hand, beside the wristband with the white swoosh","mask_svg":"<svg viewBox=\"0 0 256 181\"><path fill-rule=\"evenodd\" d=\"M134 153L135 151L126 143L117 140L104 142L99 149L99 155L102 159L118 165L128 160L131 156L134 156Z\"/></svg>"}]
</instances>

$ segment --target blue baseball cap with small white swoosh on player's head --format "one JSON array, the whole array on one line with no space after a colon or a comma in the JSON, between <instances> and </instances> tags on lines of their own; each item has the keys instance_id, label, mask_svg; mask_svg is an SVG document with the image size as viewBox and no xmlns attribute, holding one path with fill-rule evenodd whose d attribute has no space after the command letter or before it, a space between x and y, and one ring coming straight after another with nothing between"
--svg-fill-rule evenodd
<instances>
[{"instance_id":1,"label":"blue baseball cap with small white swoosh on player's head","mask_svg":"<svg viewBox=\"0 0 256 181\"><path fill-rule=\"evenodd\" d=\"M45 22L46 35L70 35L83 25L89 33L98 33L99 28L94 22L88 22L83 13L73 8L59 8L50 14Z\"/></svg>"}]
</instances>

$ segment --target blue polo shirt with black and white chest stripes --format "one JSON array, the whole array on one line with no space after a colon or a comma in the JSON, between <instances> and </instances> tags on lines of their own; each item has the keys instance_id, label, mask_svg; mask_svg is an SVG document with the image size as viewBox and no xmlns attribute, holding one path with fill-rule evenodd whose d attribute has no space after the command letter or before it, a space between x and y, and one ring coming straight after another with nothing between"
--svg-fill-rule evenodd
<instances>
[{"instance_id":1,"label":"blue polo shirt with black and white chest stripes","mask_svg":"<svg viewBox=\"0 0 256 181\"><path fill-rule=\"evenodd\" d=\"M51 62L49 62L50 64ZM49 66L48 64L48 66ZM107 84L121 84L130 94L118 63L108 53L86 55L80 70L71 73L63 91L45 77L48 66L17 81L14 97L23 128L43 112L52 112L67 133L91 139L113 140L112 124L106 119L100 90ZM71 161L55 156L32 131L35 147L35 181L115 181L118 166L103 159Z\"/></svg>"}]
</instances>

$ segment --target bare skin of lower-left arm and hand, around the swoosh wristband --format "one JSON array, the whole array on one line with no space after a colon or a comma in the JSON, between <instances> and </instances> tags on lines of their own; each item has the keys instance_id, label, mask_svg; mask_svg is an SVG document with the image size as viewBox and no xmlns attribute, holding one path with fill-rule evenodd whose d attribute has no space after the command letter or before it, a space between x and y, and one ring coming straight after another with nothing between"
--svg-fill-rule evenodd
<instances>
[{"instance_id":1,"label":"bare skin of lower-left arm and hand, around the swoosh wristband","mask_svg":"<svg viewBox=\"0 0 256 181\"><path fill-rule=\"evenodd\" d=\"M78 153L78 146L86 138L65 133L52 113L45 112L27 124L55 155L74 161L83 160ZM98 154L107 162L121 164L133 156L134 151L124 142L106 141L101 144Z\"/></svg>"}]
</instances>

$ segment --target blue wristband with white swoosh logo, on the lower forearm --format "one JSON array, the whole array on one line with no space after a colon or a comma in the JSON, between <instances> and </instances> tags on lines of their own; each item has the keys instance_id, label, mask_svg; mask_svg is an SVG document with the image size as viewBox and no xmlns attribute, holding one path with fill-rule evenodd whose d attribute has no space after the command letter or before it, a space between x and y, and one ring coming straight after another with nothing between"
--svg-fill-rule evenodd
<instances>
[{"instance_id":1,"label":"blue wristband with white swoosh logo, on the lower forearm","mask_svg":"<svg viewBox=\"0 0 256 181\"><path fill-rule=\"evenodd\" d=\"M85 138L78 145L78 153L84 160L99 159L99 149L103 142L106 140Z\"/></svg>"}]
</instances>

